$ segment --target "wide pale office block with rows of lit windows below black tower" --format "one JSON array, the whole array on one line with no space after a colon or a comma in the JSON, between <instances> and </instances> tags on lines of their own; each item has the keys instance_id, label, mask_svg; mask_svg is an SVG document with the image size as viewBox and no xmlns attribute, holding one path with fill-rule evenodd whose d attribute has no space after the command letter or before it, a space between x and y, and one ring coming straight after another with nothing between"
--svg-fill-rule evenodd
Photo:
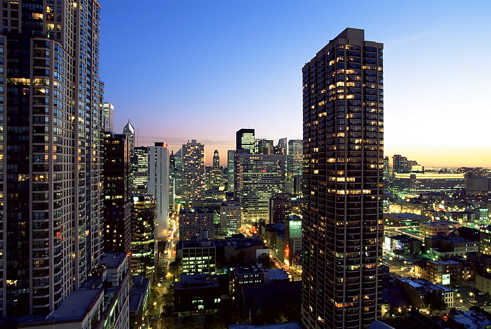
<instances>
[{"instance_id":1,"label":"wide pale office block with rows of lit windows below black tower","mask_svg":"<svg viewBox=\"0 0 491 329\"><path fill-rule=\"evenodd\" d=\"M235 193L242 207L243 223L268 221L268 201L285 192L285 155L235 154Z\"/></svg>"}]
</instances>

